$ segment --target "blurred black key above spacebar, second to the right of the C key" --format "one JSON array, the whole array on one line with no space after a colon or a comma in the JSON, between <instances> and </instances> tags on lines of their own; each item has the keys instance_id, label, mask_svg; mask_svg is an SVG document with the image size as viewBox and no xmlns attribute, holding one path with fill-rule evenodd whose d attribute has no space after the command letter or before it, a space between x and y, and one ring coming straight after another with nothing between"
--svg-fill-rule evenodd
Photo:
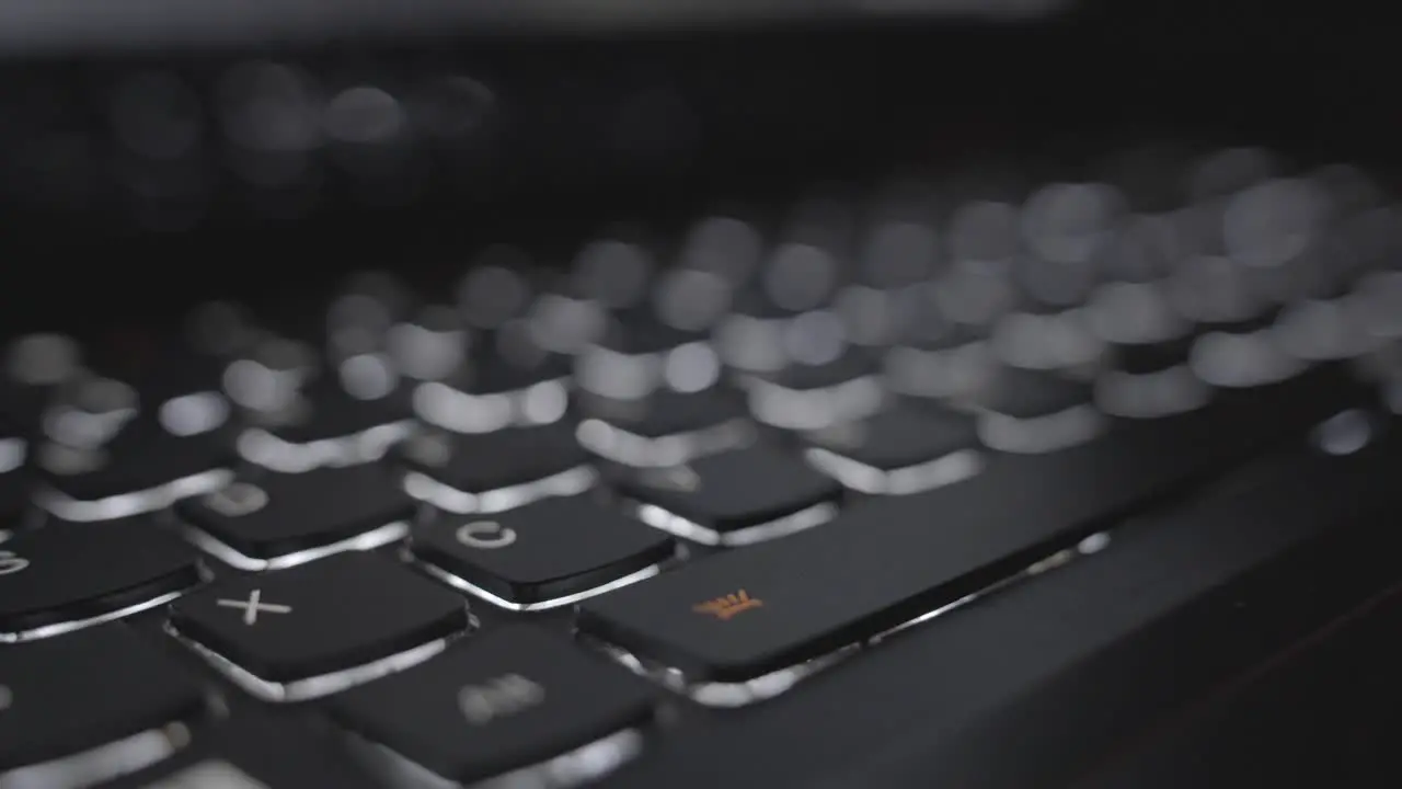
<instances>
[{"instance_id":1,"label":"blurred black key above spacebar, second to the right of the C key","mask_svg":"<svg viewBox=\"0 0 1402 789\"><path fill-rule=\"evenodd\" d=\"M862 493L916 493L965 479L981 465L974 417L952 410L894 404L805 438L809 462Z\"/></svg>"}]
</instances>

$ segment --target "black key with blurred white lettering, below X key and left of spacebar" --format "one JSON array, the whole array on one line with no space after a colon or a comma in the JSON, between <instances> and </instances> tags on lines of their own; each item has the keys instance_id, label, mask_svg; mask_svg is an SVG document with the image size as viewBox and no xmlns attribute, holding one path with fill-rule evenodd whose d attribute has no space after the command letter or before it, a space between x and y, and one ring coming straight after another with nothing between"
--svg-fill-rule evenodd
<instances>
[{"instance_id":1,"label":"black key with blurred white lettering, below X key and left of spacebar","mask_svg":"<svg viewBox=\"0 0 1402 789\"><path fill-rule=\"evenodd\" d=\"M653 701L625 670L515 626L343 694L331 709L365 740L474 782L627 736L651 720Z\"/></svg>"}]
</instances>

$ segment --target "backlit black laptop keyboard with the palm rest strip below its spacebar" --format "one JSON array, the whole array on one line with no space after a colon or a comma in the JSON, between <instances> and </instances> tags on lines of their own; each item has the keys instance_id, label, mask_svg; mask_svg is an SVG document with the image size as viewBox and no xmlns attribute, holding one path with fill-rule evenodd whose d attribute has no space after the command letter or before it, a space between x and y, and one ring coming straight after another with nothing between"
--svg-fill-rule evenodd
<instances>
[{"instance_id":1,"label":"backlit black laptop keyboard with the palm rest strip below its spacebar","mask_svg":"<svg viewBox=\"0 0 1402 789\"><path fill-rule=\"evenodd\" d=\"M1070 786L1389 594L1385 188L990 173L11 337L0 789Z\"/></svg>"}]
</instances>

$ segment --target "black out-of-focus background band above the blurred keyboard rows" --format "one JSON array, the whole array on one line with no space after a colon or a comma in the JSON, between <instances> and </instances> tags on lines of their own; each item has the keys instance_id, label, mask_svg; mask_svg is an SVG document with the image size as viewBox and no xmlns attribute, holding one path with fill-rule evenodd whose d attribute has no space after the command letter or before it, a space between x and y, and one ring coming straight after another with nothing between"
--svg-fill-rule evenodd
<instances>
[{"instance_id":1,"label":"black out-of-focus background band above the blurred keyboard rows","mask_svg":"<svg viewBox=\"0 0 1402 789\"><path fill-rule=\"evenodd\" d=\"M426 27L428 38L0 59L6 323L154 317L215 295L287 298L366 267L432 286L485 243L526 243L550 264L617 219L665 230L718 198L763 202L815 181L941 173L980 157L1054 177L1129 140L1269 145L1302 163L1395 168L1394 42L1342 3L1089 0L1004 25ZM297 63L328 87L391 93L463 74L494 98L470 135L394 152L412 199L383 199L395 190L366 188L331 159L314 208L292 220L250 208L257 195L230 184L209 132L189 201L198 218L153 230L114 175L123 163L104 97L149 69L207 97L248 58Z\"/></svg>"}]
</instances>

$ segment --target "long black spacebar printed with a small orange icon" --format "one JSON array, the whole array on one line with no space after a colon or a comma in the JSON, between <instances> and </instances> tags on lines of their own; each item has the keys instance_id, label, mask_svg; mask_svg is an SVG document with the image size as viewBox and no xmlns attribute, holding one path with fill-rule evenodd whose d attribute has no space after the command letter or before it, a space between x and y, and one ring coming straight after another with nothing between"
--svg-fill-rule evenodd
<instances>
[{"instance_id":1,"label":"long black spacebar printed with a small orange icon","mask_svg":"<svg viewBox=\"0 0 1402 789\"><path fill-rule=\"evenodd\" d=\"M585 604L579 629L688 681L735 682L862 642L1213 479L1360 403L1323 366L1047 456L869 500L831 524L722 553Z\"/></svg>"}]
</instances>

